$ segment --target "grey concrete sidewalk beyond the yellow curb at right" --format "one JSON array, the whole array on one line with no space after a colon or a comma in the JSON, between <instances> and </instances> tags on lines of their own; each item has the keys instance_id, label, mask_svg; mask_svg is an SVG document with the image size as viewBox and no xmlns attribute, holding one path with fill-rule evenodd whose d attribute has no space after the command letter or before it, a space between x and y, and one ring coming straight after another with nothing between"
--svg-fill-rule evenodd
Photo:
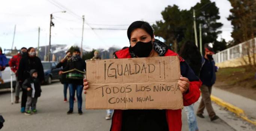
<instances>
[{"instance_id":1,"label":"grey concrete sidewalk beyond the yellow curb at right","mask_svg":"<svg viewBox=\"0 0 256 131\"><path fill-rule=\"evenodd\" d=\"M230 93L228 91L225 91L216 87L213 88L212 94L224 100L225 102L228 102L234 106L237 106L243 109L249 118L256 119L256 112L255 112L256 101L255 100L252 100L234 93Z\"/></svg>"}]
</instances>

